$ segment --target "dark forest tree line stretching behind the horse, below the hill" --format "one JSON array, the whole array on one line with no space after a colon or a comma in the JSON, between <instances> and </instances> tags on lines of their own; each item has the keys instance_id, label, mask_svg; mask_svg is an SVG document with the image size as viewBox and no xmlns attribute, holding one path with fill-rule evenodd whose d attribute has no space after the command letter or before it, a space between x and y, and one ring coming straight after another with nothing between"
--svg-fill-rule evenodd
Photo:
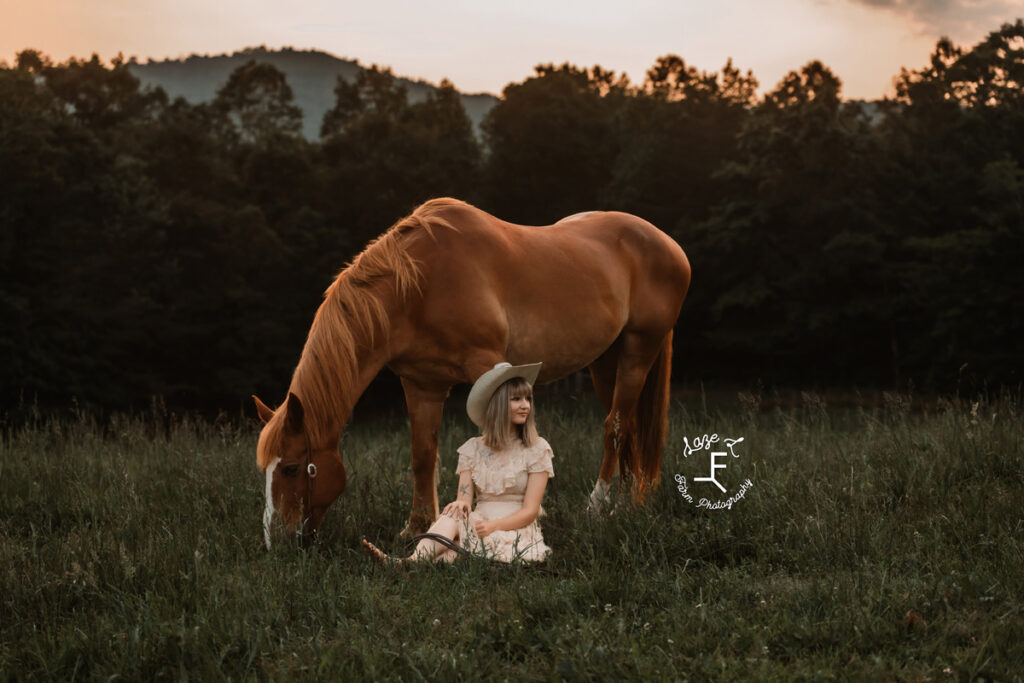
<instances>
[{"instance_id":1,"label":"dark forest tree line stretching behind the horse, below the hill","mask_svg":"<svg viewBox=\"0 0 1024 683\"><path fill-rule=\"evenodd\" d=\"M324 289L423 201L513 222L635 213L693 267L674 379L1019 387L1024 20L941 39L880 102L811 61L642 83L538 66L473 126L451 83L339 80L318 140L284 74L211 102L122 57L0 65L0 411L238 411L283 396Z\"/></svg>"}]
</instances>

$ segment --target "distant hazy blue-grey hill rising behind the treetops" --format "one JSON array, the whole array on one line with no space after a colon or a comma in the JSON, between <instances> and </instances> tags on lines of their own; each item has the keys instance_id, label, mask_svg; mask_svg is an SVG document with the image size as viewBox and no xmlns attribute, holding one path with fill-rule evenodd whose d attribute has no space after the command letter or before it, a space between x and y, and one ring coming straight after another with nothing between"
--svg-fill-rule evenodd
<instances>
[{"instance_id":1,"label":"distant hazy blue-grey hill rising behind the treetops","mask_svg":"<svg viewBox=\"0 0 1024 683\"><path fill-rule=\"evenodd\" d=\"M289 47L280 50L250 47L233 54L194 54L184 59L151 59L145 63L133 61L129 69L143 86L162 87L172 99L180 96L190 102L203 102L212 100L230 73L250 59L271 63L285 73L295 93L295 103L302 109L302 132L311 140L319 137L324 114L334 105L334 85L338 77L354 81L364 69L354 59ZM406 86L410 101L414 102L425 99L435 89L421 80L399 77L398 82ZM462 95L466 113L477 129L497 101L498 97L488 93Z\"/></svg>"}]
</instances>

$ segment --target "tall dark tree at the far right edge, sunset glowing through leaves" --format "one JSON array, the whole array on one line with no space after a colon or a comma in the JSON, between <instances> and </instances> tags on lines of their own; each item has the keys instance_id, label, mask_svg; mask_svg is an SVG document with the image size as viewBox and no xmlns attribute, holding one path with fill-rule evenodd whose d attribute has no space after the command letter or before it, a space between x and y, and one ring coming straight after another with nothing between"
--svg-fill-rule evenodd
<instances>
[{"instance_id":1,"label":"tall dark tree at the far right edge, sunset glowing through leaves","mask_svg":"<svg viewBox=\"0 0 1024 683\"><path fill-rule=\"evenodd\" d=\"M934 384L951 385L965 364L979 381L1024 378L1022 84L1018 19L970 50L940 40L887 105L882 187L904 237L905 362Z\"/></svg>"}]
</instances>

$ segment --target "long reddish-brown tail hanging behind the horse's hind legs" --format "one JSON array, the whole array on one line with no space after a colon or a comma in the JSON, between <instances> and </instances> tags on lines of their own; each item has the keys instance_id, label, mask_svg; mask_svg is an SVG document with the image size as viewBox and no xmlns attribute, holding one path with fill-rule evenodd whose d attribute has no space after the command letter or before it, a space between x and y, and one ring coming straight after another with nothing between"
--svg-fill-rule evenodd
<instances>
[{"instance_id":1,"label":"long reddish-brown tail hanging behind the horse's hind legs","mask_svg":"<svg viewBox=\"0 0 1024 683\"><path fill-rule=\"evenodd\" d=\"M647 373L637 401L637 501L652 492L662 475L665 433L669 426L669 388L672 379L672 330L662 342L662 350Z\"/></svg>"}]
</instances>

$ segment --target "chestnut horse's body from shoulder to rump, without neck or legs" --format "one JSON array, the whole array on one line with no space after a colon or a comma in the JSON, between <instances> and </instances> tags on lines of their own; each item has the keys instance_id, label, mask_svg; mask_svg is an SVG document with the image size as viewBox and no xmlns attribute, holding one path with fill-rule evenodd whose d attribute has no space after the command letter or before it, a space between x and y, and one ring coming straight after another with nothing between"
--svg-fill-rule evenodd
<instances>
[{"instance_id":1,"label":"chestnut horse's body from shoulder to rump, without neck or legs","mask_svg":"<svg viewBox=\"0 0 1024 683\"><path fill-rule=\"evenodd\" d=\"M636 216L518 225L466 204L437 215L451 229L410 246L422 271L414 355L485 348L512 362L544 359L547 381L585 367L626 329L665 335L678 317L686 257Z\"/></svg>"}]
</instances>

